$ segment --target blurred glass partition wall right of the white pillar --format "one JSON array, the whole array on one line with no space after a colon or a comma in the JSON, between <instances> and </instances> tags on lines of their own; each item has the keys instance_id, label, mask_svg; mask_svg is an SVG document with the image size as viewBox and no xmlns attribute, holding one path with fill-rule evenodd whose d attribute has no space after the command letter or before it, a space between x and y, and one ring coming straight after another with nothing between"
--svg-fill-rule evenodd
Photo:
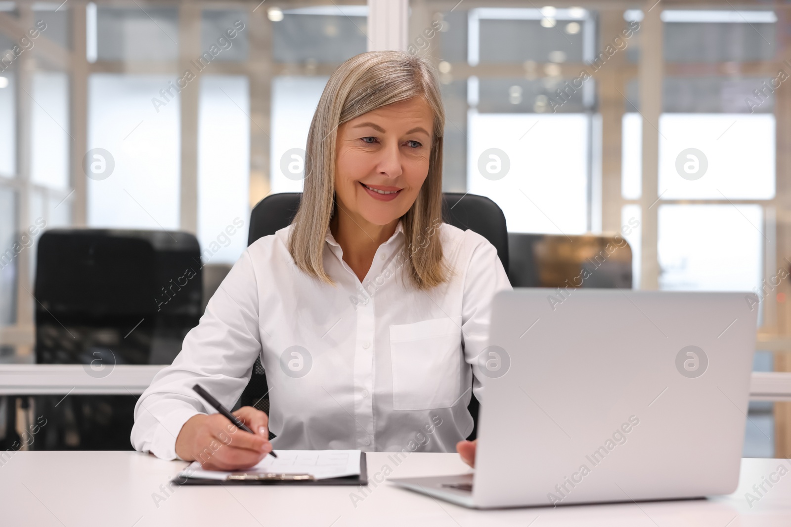
<instances>
[{"instance_id":1,"label":"blurred glass partition wall right of the white pillar","mask_svg":"<svg viewBox=\"0 0 791 527\"><path fill-rule=\"evenodd\" d=\"M789 6L410 5L410 49L441 71L448 190L494 199L511 232L620 232L635 288L758 292L755 370L791 369ZM745 455L788 444L788 422L751 403Z\"/></svg>"}]
</instances>

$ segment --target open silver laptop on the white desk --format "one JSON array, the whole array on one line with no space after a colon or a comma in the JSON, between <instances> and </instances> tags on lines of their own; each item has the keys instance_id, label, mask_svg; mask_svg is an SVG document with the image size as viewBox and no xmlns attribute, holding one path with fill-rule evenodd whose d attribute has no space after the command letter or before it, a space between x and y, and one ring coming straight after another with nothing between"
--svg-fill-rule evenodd
<instances>
[{"instance_id":1,"label":"open silver laptop on the white desk","mask_svg":"<svg viewBox=\"0 0 791 527\"><path fill-rule=\"evenodd\" d=\"M752 293L501 292L475 472L389 481L477 508L729 494L757 314Z\"/></svg>"}]
</instances>

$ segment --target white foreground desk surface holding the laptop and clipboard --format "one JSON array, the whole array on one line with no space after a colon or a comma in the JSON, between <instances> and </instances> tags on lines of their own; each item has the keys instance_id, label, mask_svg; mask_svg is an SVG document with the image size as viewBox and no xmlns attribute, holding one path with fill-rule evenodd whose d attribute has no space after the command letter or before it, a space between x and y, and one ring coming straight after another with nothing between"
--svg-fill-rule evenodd
<instances>
[{"instance_id":1,"label":"white foreground desk surface holding the laptop and clipboard","mask_svg":"<svg viewBox=\"0 0 791 527\"><path fill-rule=\"evenodd\" d=\"M409 454L396 466L386 453L368 454L369 477L385 466L392 476L464 472L456 454ZM168 483L185 464L135 452L18 452L0 466L0 524L36 527L148 527L202 525L245 527L287 525L343 527L467 527L473 525L607 525L615 527L788 527L791 525L791 473L782 476L758 502L744 493L778 465L789 461L745 459L740 488L707 500L621 503L593 506L467 510L373 483L368 496L353 503L358 487L176 487L164 501ZM356 506L355 506L356 505ZM536 518L538 518L536 520ZM534 523L531 523L535 521Z\"/></svg>"}]
</instances>

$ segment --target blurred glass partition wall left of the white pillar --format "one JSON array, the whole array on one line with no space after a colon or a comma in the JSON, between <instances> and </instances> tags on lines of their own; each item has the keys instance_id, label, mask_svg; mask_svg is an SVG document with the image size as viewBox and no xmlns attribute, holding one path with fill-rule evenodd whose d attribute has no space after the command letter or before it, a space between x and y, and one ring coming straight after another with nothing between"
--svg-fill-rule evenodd
<instances>
[{"instance_id":1,"label":"blurred glass partition wall left of the white pillar","mask_svg":"<svg viewBox=\"0 0 791 527\"><path fill-rule=\"evenodd\" d=\"M0 359L32 362L47 228L183 230L233 264L301 189L313 108L364 2L0 2ZM285 156L285 157L284 157ZM226 234L229 225L235 235Z\"/></svg>"}]
</instances>

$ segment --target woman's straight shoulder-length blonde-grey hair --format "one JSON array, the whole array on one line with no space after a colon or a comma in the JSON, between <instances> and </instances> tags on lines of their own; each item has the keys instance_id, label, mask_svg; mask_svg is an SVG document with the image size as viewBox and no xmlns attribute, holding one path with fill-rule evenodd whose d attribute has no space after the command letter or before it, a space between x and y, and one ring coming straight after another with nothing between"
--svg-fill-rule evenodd
<instances>
[{"instance_id":1,"label":"woman's straight shoulder-length blonde-grey hair","mask_svg":"<svg viewBox=\"0 0 791 527\"><path fill-rule=\"evenodd\" d=\"M434 230L442 216L442 107L437 73L425 58L401 51L369 51L343 62L332 73L310 123L305 149L305 187L291 226L289 252L297 267L327 284L335 284L324 270L324 242L335 205L335 143L344 122L369 111L414 97L422 97L433 115L429 172L418 197L405 213L403 233L407 252L404 272L418 289L448 280L450 270ZM433 238L428 243L427 236Z\"/></svg>"}]
</instances>

